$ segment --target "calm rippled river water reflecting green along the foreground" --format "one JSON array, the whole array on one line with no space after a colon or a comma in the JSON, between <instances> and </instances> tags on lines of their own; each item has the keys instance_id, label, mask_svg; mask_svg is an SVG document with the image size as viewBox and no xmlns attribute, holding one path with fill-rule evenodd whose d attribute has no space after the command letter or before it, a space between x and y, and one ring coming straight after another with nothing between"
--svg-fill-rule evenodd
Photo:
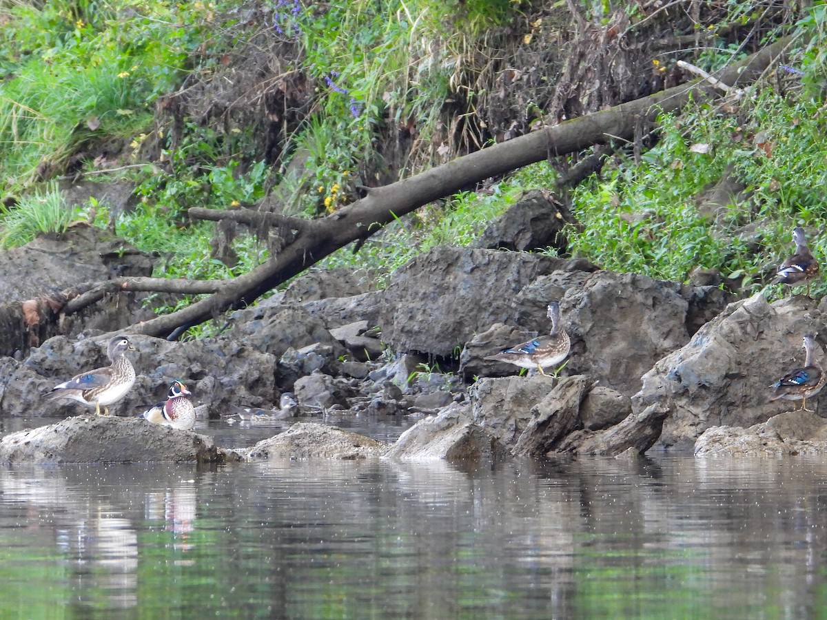
<instances>
[{"instance_id":1,"label":"calm rippled river water reflecting green along the foreground","mask_svg":"<svg viewBox=\"0 0 827 620\"><path fill-rule=\"evenodd\" d=\"M0 618L818 617L825 481L798 458L0 468Z\"/></svg>"}]
</instances>

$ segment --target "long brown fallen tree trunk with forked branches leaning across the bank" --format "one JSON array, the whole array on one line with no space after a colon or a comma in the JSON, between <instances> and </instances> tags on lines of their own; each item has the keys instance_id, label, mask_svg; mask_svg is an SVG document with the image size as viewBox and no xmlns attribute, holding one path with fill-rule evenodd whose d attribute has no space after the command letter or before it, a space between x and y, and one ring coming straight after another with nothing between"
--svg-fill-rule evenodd
<instances>
[{"instance_id":1,"label":"long brown fallen tree trunk with forked branches leaning across the bank","mask_svg":"<svg viewBox=\"0 0 827 620\"><path fill-rule=\"evenodd\" d=\"M777 60L789 41L778 41L743 62L715 74L719 82L743 87L752 83ZM285 245L276 255L250 272L222 282L203 283L173 281L174 292L208 293L209 296L177 312L131 326L130 331L159 337L177 337L184 329L219 316L222 312L243 308L264 293L315 265L327 255L356 241L361 243L382 227L414 210L460 191L485 179L505 174L525 165L584 150L592 145L633 141L642 124L652 124L662 112L676 112L691 98L721 98L719 88L705 79L683 84L629 103L595 112L560 125L549 126L510 141L492 145L464 155L445 165L427 170L409 179L380 188L366 188L365 198L327 217L316 220L284 217L251 209L218 211L189 209L190 217L221 220L229 218L260 227L280 227L286 234ZM101 283L78 294L64 294L62 303L33 300L30 308L41 323L56 320L61 314L78 312L93 303L96 296L114 289L170 291L169 280L136 279L119 284ZM135 287L140 285L141 289ZM152 288L153 286L157 288ZM54 296L51 297L54 299ZM32 300L30 300L31 302ZM0 307L0 314L9 308ZM22 307L15 308L12 322L20 324ZM33 316L33 315L31 315ZM3 317L0 316L0 322ZM24 322L24 325L26 323Z\"/></svg>"}]
</instances>

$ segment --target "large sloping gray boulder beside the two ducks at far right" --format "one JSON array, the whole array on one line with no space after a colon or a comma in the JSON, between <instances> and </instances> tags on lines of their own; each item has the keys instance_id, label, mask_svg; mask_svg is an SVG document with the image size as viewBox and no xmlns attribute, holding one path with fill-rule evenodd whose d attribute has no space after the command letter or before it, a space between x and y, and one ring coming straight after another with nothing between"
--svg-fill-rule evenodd
<instances>
[{"instance_id":1,"label":"large sloping gray boulder beside the two ducks at far right","mask_svg":"<svg viewBox=\"0 0 827 620\"><path fill-rule=\"evenodd\" d=\"M751 427L796 406L767 401L768 386L801 365L801 336L823 328L815 302L770 305L760 293L732 303L681 349L643 375L635 412L657 403L670 410L659 446L689 448L709 427ZM823 351L818 351L824 359ZM823 395L807 401L820 410Z\"/></svg>"}]
</instances>

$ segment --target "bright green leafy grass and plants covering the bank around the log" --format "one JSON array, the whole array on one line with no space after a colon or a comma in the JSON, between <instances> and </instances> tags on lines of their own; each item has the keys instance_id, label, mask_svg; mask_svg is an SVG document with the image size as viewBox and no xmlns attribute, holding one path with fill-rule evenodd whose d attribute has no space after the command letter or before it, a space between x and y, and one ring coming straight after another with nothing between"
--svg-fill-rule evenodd
<instances>
[{"instance_id":1,"label":"bright green leafy grass and plants covering the bank around the log","mask_svg":"<svg viewBox=\"0 0 827 620\"><path fill-rule=\"evenodd\" d=\"M753 19L757 9L742 4L732 4L729 21L715 27ZM601 25L617 8L611 2L583 7L586 18ZM135 184L141 202L117 217L105 204L84 214L95 207L97 225L114 217L119 235L160 253L157 275L244 273L267 258L265 246L241 236L233 242L236 265L211 258L213 226L190 222L189 207L250 205L273 191L284 212L318 216L354 200L366 175L379 174L398 155L399 133L410 131L431 145L396 162L385 181L454 155L459 130L449 135L445 129L447 98L466 90L473 96L468 76L492 29L524 21L530 9L514 0L3 4L0 191L19 198L0 213L0 241L9 246L37 231L64 229L78 213L62 205L53 186L34 189L38 179L69 169L100 173L112 164L99 167L96 145L120 141L120 165L107 178ZM677 281L696 267L720 269L749 292L761 285L756 274L789 253L793 226L825 227L827 8L819 4L802 16L795 25L798 46L780 73L739 103L697 103L680 116L662 117L653 149L637 160L620 151L600 177L576 188L574 210L585 226L570 231L575 255L607 269ZM647 19L638 10L628 17ZM251 20L261 27L251 28ZM539 23L531 22L531 32ZM159 113L170 93L220 74L233 50L258 45L256 36L294 54L283 75L307 79L306 100L292 124L284 124L278 160L256 144L255 127L228 117L223 125L184 117L172 127ZM736 55L743 50L716 39L699 50L698 64L711 69ZM663 62L656 73L665 70ZM151 164L149 152L156 156ZM699 210L699 195L722 174L742 181L748 198L710 215ZM553 178L548 165L529 166L492 182L485 193L460 193L420 209L371 237L358 254L342 250L323 264L368 269L384 285L420 252L471 244L521 193L550 187ZM827 241L812 241L816 255L827 257Z\"/></svg>"}]
</instances>

